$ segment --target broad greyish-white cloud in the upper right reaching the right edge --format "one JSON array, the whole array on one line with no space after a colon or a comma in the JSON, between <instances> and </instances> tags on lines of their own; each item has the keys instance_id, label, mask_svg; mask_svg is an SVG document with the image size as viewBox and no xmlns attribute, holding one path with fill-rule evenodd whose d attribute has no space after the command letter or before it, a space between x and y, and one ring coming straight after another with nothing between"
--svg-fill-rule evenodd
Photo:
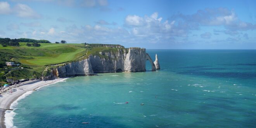
<instances>
[{"instance_id":1,"label":"broad greyish-white cloud in the upper right reaching the right edge","mask_svg":"<svg viewBox=\"0 0 256 128\"><path fill-rule=\"evenodd\" d=\"M214 8L198 10L192 15L178 14L172 19L185 22L190 29L198 29L199 26L224 26L230 31L246 31L256 29L256 24L241 21L234 10L226 8Z\"/></svg>"}]
</instances>

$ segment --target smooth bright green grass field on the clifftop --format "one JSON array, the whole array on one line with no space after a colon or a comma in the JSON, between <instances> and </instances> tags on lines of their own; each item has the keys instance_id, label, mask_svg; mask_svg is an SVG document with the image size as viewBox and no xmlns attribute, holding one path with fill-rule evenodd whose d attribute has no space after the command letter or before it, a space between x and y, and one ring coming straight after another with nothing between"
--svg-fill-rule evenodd
<instances>
[{"instance_id":1,"label":"smooth bright green grass field on the clifftop","mask_svg":"<svg viewBox=\"0 0 256 128\"><path fill-rule=\"evenodd\" d=\"M0 50L13 54L13 61L28 66L47 66L68 61L74 61L85 54L83 44L54 44L40 43L40 47L27 47L26 43L20 43L20 47L2 47Z\"/></svg>"}]
</instances>

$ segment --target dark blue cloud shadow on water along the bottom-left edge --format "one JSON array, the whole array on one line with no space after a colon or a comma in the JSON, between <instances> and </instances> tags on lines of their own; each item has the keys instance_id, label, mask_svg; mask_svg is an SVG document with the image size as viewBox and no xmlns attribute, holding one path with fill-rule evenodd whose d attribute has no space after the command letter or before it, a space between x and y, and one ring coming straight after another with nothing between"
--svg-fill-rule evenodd
<instances>
[{"instance_id":1,"label":"dark blue cloud shadow on water along the bottom-left edge","mask_svg":"<svg viewBox=\"0 0 256 128\"><path fill-rule=\"evenodd\" d=\"M50 113L33 112L29 119L29 128L128 128L117 123L113 118L92 114L59 115ZM89 124L83 124L88 122ZM17 125L19 127L19 125Z\"/></svg>"}]
</instances>

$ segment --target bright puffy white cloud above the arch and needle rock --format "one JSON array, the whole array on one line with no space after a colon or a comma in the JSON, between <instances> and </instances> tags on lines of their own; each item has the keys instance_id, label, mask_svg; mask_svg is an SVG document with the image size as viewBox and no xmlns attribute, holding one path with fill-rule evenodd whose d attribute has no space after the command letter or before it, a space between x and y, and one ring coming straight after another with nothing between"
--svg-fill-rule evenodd
<instances>
[{"instance_id":1,"label":"bright puffy white cloud above the arch and needle rock","mask_svg":"<svg viewBox=\"0 0 256 128\"><path fill-rule=\"evenodd\" d=\"M151 37L157 40L170 38L171 36L187 36L186 27L175 26L175 21L163 21L155 12L150 16L128 15L125 18L125 26L131 29L131 33L140 37Z\"/></svg>"}]
</instances>

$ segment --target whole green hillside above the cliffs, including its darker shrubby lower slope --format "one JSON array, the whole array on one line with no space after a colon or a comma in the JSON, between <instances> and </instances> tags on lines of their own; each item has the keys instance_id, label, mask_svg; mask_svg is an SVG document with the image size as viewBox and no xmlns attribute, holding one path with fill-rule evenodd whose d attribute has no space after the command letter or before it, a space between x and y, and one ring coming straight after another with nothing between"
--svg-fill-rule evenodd
<instances>
[{"instance_id":1,"label":"whole green hillside above the cliffs, including its darker shrubby lower slope","mask_svg":"<svg viewBox=\"0 0 256 128\"><path fill-rule=\"evenodd\" d=\"M102 45L90 44L62 44L62 43L38 43L40 47L28 47L27 42L19 42L19 47L0 45L0 64L15 62L21 64L17 67L0 67L0 81L6 83L5 78L15 80L21 78L38 78L47 66L79 61L90 54L100 55L99 52L116 51L117 48L102 47ZM87 54L86 54L87 53ZM101 55L102 56L102 55ZM105 57L105 56L102 56Z\"/></svg>"}]
</instances>

